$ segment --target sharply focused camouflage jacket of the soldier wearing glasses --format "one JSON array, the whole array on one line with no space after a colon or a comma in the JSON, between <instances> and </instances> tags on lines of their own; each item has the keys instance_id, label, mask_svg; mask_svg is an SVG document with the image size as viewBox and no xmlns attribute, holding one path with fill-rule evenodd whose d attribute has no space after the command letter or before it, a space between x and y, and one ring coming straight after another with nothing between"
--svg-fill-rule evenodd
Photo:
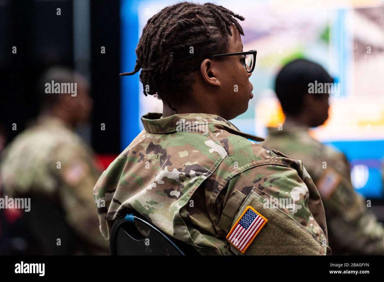
<instances>
[{"instance_id":1,"label":"sharply focused camouflage jacket of the soldier wearing glasses","mask_svg":"<svg viewBox=\"0 0 384 282\"><path fill-rule=\"evenodd\" d=\"M226 236L252 207L268 222L245 254L329 254L323 204L300 161L217 115L141 119L144 130L94 187L107 240L113 222L134 209L201 254L240 254ZM279 198L290 206L271 208Z\"/></svg>"}]
</instances>

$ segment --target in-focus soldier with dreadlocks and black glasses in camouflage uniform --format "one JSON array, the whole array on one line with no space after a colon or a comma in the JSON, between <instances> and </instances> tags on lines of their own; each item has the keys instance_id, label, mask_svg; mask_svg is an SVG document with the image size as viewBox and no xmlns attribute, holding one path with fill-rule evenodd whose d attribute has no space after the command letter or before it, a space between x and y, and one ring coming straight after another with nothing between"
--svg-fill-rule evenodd
<instances>
[{"instance_id":1,"label":"in-focus soldier with dreadlocks and black glasses in camouflage uniform","mask_svg":"<svg viewBox=\"0 0 384 282\"><path fill-rule=\"evenodd\" d=\"M135 70L125 74L142 69L144 94L162 99L163 113L141 118L144 130L94 187L105 239L134 210L200 254L330 254L323 204L303 164L228 121L247 110L253 69L241 54L207 58L242 52L236 18L244 20L182 2L148 20Z\"/></svg>"}]
</instances>

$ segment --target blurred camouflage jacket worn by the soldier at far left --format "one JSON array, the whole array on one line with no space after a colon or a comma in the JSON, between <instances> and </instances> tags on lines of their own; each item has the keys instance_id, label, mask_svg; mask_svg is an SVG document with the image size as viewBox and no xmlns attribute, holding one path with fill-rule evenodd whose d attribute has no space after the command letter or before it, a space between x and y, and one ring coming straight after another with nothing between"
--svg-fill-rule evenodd
<instances>
[{"instance_id":1,"label":"blurred camouflage jacket worn by the soldier at far left","mask_svg":"<svg viewBox=\"0 0 384 282\"><path fill-rule=\"evenodd\" d=\"M108 254L91 196L100 175L91 149L60 119L48 116L17 135L1 162L7 195L43 195L57 202L65 211L66 223L89 243L90 251Z\"/></svg>"}]
</instances>

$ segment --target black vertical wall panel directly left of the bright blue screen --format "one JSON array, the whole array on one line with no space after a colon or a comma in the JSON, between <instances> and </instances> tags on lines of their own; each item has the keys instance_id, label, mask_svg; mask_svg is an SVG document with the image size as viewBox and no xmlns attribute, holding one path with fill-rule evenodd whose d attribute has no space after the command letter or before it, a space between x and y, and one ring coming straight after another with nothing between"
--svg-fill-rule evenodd
<instances>
[{"instance_id":1,"label":"black vertical wall panel directly left of the bright blue screen","mask_svg":"<svg viewBox=\"0 0 384 282\"><path fill-rule=\"evenodd\" d=\"M120 1L91 1L91 70L94 95L92 144L120 153ZM106 49L101 54L101 46ZM106 130L100 130L100 124Z\"/></svg>"}]
</instances>

